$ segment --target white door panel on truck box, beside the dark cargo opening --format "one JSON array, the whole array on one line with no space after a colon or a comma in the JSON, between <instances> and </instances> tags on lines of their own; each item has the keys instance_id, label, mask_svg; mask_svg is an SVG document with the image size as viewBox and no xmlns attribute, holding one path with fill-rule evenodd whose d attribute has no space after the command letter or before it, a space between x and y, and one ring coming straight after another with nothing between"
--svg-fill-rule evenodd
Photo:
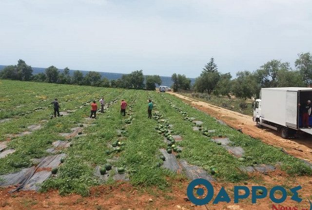
<instances>
[{"instance_id":1,"label":"white door panel on truck box, beside the dark cargo opening","mask_svg":"<svg viewBox=\"0 0 312 210\"><path fill-rule=\"evenodd\" d=\"M297 109L298 96L296 91L287 91L286 93L286 126L297 128Z\"/></svg>"}]
</instances>

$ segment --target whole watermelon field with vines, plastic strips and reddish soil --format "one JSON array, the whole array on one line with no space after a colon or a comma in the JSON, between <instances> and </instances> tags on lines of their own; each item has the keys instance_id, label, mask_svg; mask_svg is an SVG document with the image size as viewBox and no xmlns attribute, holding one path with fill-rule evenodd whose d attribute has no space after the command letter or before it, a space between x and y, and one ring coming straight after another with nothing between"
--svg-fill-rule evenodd
<instances>
[{"instance_id":1,"label":"whole watermelon field with vines, plastic strips and reddish soil","mask_svg":"<svg viewBox=\"0 0 312 210\"><path fill-rule=\"evenodd\" d=\"M102 96L105 112L89 118L90 102ZM63 116L54 118L56 97ZM149 98L155 105L152 119L147 118ZM128 103L126 116L119 113L121 99ZM312 175L309 164L283 149L242 134L174 95L153 91L0 80L0 149L2 191L39 191L36 201L27 191L1 194L4 209L40 209L40 196L49 200L46 193L65 196L49 204L57 209L196 209L184 200L187 184L198 175L192 167L230 194L235 185L282 185L291 196L289 189L299 184L307 189ZM12 173L24 177L22 182L8 185L6 174ZM72 193L81 202L66 200ZM297 206L305 207L308 193L300 192L305 202ZM103 195L110 203L97 200ZM248 199L240 206L251 205ZM257 205L272 209L266 199Z\"/></svg>"}]
</instances>

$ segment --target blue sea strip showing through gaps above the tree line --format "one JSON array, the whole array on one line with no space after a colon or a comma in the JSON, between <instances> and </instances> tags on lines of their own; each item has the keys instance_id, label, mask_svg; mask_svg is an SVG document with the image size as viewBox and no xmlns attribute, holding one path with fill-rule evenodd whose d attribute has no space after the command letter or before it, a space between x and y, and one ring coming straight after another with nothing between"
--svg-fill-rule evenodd
<instances>
[{"instance_id":1,"label":"blue sea strip showing through gaps above the tree line","mask_svg":"<svg viewBox=\"0 0 312 210\"><path fill-rule=\"evenodd\" d=\"M0 71L4 68L5 66L3 65L0 65ZM33 74L36 75L40 72L44 72L45 68L39 68L39 67L32 67L33 69ZM63 71L63 69L59 69L60 72ZM74 74L74 71L76 70L70 70L69 71L69 74L72 76ZM80 70L79 70L80 71ZM88 71L80 71L83 75L86 75L88 73ZM112 79L118 79L118 78L121 78L121 76L123 74L120 74L120 73L109 73L109 72L99 72L103 77L106 77L108 78L109 80L112 80ZM164 85L164 86L168 86L168 87L171 87L171 85L173 84L172 80L171 80L171 77L170 76L160 76L161 78L161 85ZM194 82L195 82L195 78L190 78L191 79L191 84L193 85Z\"/></svg>"}]
</instances>

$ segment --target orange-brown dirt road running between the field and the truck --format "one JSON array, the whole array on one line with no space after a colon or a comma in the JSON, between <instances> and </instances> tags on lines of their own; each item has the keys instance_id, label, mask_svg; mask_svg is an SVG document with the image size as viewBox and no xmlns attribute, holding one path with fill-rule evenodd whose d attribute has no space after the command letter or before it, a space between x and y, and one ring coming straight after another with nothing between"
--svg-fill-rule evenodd
<instances>
[{"instance_id":1,"label":"orange-brown dirt road running between the field and the truck","mask_svg":"<svg viewBox=\"0 0 312 210\"><path fill-rule=\"evenodd\" d=\"M263 142L282 147L284 150L301 159L312 162L312 139L310 138L293 138L283 139L280 135L272 129L259 129L255 126L252 116L242 115L231 110L211 105L202 101L195 100L184 95L170 93L183 99L186 103L194 106L195 108L214 116L215 118L226 122L233 128L240 129L244 134L248 134L254 138L261 139Z\"/></svg>"}]
</instances>

